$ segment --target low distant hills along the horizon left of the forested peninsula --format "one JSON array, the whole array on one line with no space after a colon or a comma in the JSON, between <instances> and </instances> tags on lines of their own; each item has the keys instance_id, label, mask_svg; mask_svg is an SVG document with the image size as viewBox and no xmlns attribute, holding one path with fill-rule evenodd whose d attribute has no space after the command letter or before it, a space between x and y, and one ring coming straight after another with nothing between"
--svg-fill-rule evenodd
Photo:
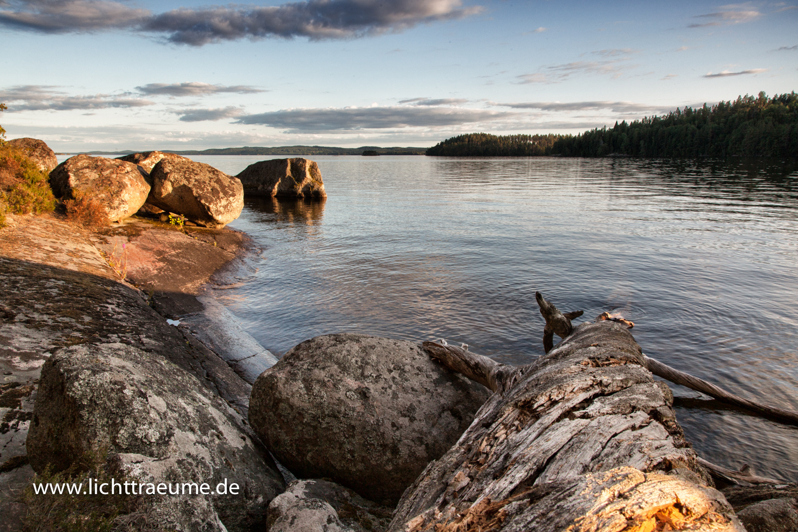
<instances>
[{"instance_id":1,"label":"low distant hills along the horizon left of the forested peninsula","mask_svg":"<svg viewBox=\"0 0 798 532\"><path fill-rule=\"evenodd\" d=\"M148 152L150 150L140 150ZM363 152L377 152L381 156L423 156L427 148L380 148L379 146L361 146L360 148L330 148L328 146L279 146L263 148L244 146L243 148L211 148L207 150L161 150L181 156L359 156ZM128 155L136 153L132 150L117 152L81 152L95 156Z\"/></svg>"}]
</instances>

